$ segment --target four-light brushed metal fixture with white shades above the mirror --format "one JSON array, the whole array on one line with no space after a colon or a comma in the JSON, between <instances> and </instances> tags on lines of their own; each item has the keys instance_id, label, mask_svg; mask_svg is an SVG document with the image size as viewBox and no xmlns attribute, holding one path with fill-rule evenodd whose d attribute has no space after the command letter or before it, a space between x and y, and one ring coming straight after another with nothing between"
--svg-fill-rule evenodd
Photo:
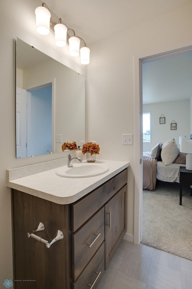
<instances>
[{"instance_id":1,"label":"four-light brushed metal fixture with white shades above the mirror","mask_svg":"<svg viewBox=\"0 0 192 289\"><path fill-rule=\"evenodd\" d=\"M58 24L51 20L51 13L45 2L42 6L35 9L36 14L36 26L37 32L42 35L48 35L51 31L55 35L55 44L59 47L64 47L67 44L67 32L73 31L73 36L69 36L69 54L71 56L79 56L80 42L84 43L84 47L80 49L81 64L89 63L90 49L86 47L85 41L75 36L75 31L73 29L67 29L67 27L61 23L61 18L59 18Z\"/></svg>"}]
</instances>

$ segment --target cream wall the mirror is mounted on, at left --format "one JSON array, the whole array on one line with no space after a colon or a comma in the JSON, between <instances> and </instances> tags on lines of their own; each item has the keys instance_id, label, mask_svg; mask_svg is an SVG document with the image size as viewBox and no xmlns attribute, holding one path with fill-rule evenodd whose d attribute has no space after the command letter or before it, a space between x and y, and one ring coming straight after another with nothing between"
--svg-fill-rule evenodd
<instances>
[{"instance_id":1,"label":"cream wall the mirror is mounted on, at left","mask_svg":"<svg viewBox=\"0 0 192 289\"><path fill-rule=\"evenodd\" d=\"M80 57L70 57L68 46L55 46L54 35L42 36L36 32L35 8L38 0L1 0L0 41L0 288L5 278L13 278L11 200L6 187L6 170L29 164L58 159L62 153L16 159L15 140L15 46L16 37L34 45L52 58L87 76L87 66L80 64Z\"/></svg>"}]
</instances>

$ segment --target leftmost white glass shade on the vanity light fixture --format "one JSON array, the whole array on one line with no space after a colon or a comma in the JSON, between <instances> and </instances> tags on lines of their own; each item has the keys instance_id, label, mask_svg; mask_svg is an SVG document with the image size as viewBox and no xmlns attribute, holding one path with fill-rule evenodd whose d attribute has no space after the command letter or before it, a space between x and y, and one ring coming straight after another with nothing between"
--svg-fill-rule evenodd
<instances>
[{"instance_id":1,"label":"leftmost white glass shade on the vanity light fixture","mask_svg":"<svg viewBox=\"0 0 192 289\"><path fill-rule=\"evenodd\" d=\"M35 9L37 32L42 35L49 34L51 13L43 6Z\"/></svg>"}]
</instances>

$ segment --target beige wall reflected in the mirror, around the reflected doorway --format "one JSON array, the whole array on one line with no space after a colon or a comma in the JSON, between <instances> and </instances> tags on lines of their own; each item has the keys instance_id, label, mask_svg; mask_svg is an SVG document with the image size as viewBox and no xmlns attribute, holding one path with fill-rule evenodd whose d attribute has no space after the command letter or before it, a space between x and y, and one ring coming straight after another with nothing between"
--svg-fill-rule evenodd
<instances>
[{"instance_id":1,"label":"beige wall reflected in the mirror, around the reflected doorway","mask_svg":"<svg viewBox=\"0 0 192 289\"><path fill-rule=\"evenodd\" d=\"M85 140L84 76L54 59L42 61L23 70L23 88L25 89L49 83L54 79L55 135L61 134L62 143L76 141L77 146L80 146L81 140ZM56 143L56 137L54 139L54 152L61 152L62 143ZM67 154L68 152L65 153L66 156Z\"/></svg>"}]
</instances>

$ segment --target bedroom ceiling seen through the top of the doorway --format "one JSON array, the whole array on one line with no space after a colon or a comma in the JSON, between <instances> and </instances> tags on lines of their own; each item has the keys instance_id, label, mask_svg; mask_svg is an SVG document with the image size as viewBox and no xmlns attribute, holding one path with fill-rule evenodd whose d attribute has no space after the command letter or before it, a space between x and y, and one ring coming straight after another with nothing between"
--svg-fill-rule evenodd
<instances>
[{"instance_id":1,"label":"bedroom ceiling seen through the top of the doorway","mask_svg":"<svg viewBox=\"0 0 192 289\"><path fill-rule=\"evenodd\" d=\"M192 95L192 49L142 65L143 104L188 100Z\"/></svg>"}]
</instances>

